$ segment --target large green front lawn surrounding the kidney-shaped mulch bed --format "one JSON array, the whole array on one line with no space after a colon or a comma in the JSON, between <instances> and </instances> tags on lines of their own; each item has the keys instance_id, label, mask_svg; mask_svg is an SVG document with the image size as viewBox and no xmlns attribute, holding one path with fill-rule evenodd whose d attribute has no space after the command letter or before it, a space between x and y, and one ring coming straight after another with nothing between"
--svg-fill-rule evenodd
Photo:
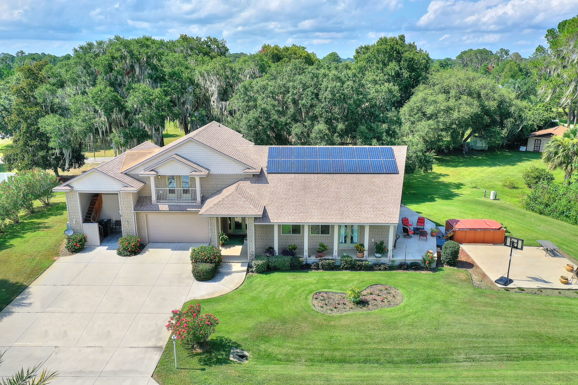
<instances>
[{"instance_id":1,"label":"large green front lawn surrounding the kidney-shaped mulch bed","mask_svg":"<svg viewBox=\"0 0 578 385\"><path fill-rule=\"evenodd\" d=\"M311 305L316 291L376 283L401 290L402 304L336 315ZM576 298L481 290L457 269L249 275L199 302L220 320L211 347L191 354L177 344L175 369L169 340L153 375L161 385L553 384L578 375ZM229 361L231 346L249 350L249 362Z\"/></svg>"}]
</instances>

